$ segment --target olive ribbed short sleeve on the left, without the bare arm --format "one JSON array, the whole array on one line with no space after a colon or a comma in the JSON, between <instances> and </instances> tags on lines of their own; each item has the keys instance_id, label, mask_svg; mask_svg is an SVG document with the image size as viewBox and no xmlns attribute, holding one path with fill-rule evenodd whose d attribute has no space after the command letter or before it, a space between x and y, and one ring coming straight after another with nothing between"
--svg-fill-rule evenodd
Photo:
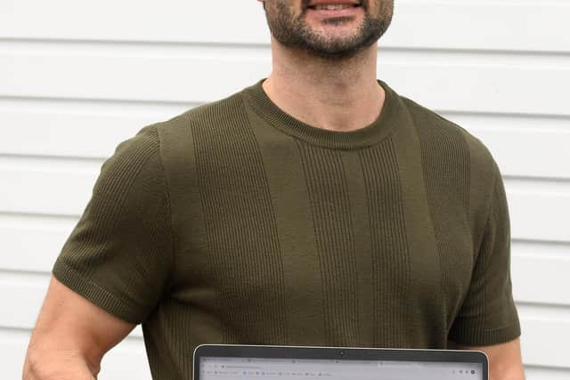
<instances>
[{"instance_id":1,"label":"olive ribbed short sleeve on the left, without the bare arm","mask_svg":"<svg viewBox=\"0 0 570 380\"><path fill-rule=\"evenodd\" d=\"M103 164L53 275L119 319L141 323L167 291L172 250L159 135L149 125Z\"/></svg>"}]
</instances>

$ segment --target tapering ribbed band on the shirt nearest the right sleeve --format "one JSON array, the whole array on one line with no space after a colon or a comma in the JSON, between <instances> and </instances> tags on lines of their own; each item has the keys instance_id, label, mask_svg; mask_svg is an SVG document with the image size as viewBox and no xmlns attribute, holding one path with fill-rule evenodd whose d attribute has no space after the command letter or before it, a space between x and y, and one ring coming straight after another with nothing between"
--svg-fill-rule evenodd
<instances>
[{"instance_id":1,"label":"tapering ribbed band on the shirt nearest the right sleeve","mask_svg":"<svg viewBox=\"0 0 570 380\"><path fill-rule=\"evenodd\" d=\"M459 127L427 122L416 129L442 269L442 294L449 295L442 299L449 329L467 291L476 255L468 225L469 150Z\"/></svg>"}]
</instances>

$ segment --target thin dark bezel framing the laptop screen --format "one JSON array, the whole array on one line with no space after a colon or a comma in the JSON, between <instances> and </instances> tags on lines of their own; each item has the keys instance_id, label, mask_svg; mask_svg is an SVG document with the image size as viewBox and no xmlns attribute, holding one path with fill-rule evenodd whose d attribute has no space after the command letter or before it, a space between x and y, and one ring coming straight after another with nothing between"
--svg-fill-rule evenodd
<instances>
[{"instance_id":1,"label":"thin dark bezel framing the laptop screen","mask_svg":"<svg viewBox=\"0 0 570 380\"><path fill-rule=\"evenodd\" d=\"M256 359L314 359L314 360L386 360L439 361L478 363L482 365L482 380L489 380L489 360L485 352L468 350L419 350L390 348L282 346L249 344L200 344L194 350L192 379L200 380L200 359L256 358Z\"/></svg>"}]
</instances>

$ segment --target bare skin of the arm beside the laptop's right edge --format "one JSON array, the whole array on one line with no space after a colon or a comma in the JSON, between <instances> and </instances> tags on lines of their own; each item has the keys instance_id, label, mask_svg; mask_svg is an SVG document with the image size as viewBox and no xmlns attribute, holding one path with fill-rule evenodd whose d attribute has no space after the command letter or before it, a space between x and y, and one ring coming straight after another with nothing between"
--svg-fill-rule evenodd
<instances>
[{"instance_id":1,"label":"bare skin of the arm beside the laptop's right edge","mask_svg":"<svg viewBox=\"0 0 570 380\"><path fill-rule=\"evenodd\" d=\"M519 338L506 343L485 346L455 344L455 348L485 352L489 358L490 380L524 380L525 378Z\"/></svg>"}]
</instances>

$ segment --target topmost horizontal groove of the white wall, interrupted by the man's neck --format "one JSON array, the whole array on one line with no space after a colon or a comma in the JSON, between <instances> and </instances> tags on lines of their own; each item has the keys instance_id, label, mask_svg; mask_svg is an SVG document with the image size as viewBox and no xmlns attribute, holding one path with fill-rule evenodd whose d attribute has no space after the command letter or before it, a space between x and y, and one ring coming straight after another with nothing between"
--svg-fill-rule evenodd
<instances>
[{"instance_id":1,"label":"topmost horizontal groove of the white wall, interrupted by the man's neck","mask_svg":"<svg viewBox=\"0 0 570 380\"><path fill-rule=\"evenodd\" d=\"M394 53L444 53L444 54L476 54L476 55L509 55L509 56L542 56L542 57L570 57L570 52L556 51L556 50L507 50L507 49L476 49L476 48L445 48L445 47L430 47L430 46L405 46L405 45L391 45L385 46L383 41L379 41L379 52L394 52ZM136 47L191 47L196 46L201 49L218 50L220 48L229 50L241 49L255 49L258 51L269 52L271 44L266 43L242 43L242 42L220 42L220 41L177 41L177 40L132 40L132 39L69 39L69 38L39 38L39 37L11 37L0 36L0 44L63 44L63 45L77 45L85 47L85 45L93 44L97 46L136 46Z\"/></svg>"}]
</instances>

